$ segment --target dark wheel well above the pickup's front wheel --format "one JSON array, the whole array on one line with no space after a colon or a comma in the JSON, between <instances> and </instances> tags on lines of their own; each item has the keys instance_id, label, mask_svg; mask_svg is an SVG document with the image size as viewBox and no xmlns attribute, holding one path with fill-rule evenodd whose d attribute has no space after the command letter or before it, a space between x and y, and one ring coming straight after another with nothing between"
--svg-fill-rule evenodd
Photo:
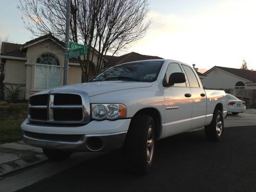
<instances>
[{"instance_id":1,"label":"dark wheel well above the pickup's front wheel","mask_svg":"<svg viewBox=\"0 0 256 192\"><path fill-rule=\"evenodd\" d=\"M132 118L132 120L137 116L137 115L149 115L154 119L155 125L156 125L156 139L158 139L159 134L160 134L160 129L161 129L161 116L160 113L157 109L155 108L144 108L140 111L138 111Z\"/></svg>"}]
</instances>

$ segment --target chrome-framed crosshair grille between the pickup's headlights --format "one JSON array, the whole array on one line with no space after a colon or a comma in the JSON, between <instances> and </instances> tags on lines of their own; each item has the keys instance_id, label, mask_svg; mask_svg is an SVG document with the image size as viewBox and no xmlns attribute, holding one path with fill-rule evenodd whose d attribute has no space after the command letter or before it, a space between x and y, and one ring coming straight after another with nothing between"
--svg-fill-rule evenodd
<instances>
[{"instance_id":1,"label":"chrome-framed crosshair grille between the pickup's headlights","mask_svg":"<svg viewBox=\"0 0 256 192\"><path fill-rule=\"evenodd\" d=\"M80 91L51 90L29 99L31 122L85 124L90 121L90 101Z\"/></svg>"}]
</instances>

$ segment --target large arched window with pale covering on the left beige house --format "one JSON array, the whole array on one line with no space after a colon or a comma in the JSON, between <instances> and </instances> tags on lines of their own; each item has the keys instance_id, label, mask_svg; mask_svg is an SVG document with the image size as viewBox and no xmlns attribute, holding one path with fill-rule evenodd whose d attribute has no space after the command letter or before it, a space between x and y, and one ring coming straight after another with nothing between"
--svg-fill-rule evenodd
<instances>
[{"instance_id":1,"label":"large arched window with pale covering on the left beige house","mask_svg":"<svg viewBox=\"0 0 256 192\"><path fill-rule=\"evenodd\" d=\"M35 89L51 89L60 86L60 64L56 56L41 54L35 61Z\"/></svg>"}]
</instances>

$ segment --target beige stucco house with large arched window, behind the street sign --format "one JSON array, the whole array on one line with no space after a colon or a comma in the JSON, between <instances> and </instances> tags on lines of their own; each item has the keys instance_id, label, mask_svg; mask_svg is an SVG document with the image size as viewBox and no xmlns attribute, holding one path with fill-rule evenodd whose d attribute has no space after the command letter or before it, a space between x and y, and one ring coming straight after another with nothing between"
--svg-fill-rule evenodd
<instances>
[{"instance_id":1,"label":"beige stucco house with large arched window, behind the street sign","mask_svg":"<svg viewBox=\"0 0 256 192\"><path fill-rule=\"evenodd\" d=\"M25 44L2 42L1 64L4 66L4 83L21 86L24 98L42 90L62 86L65 42L51 34L32 39ZM96 52L97 54L97 52ZM91 68L95 75L96 54ZM76 58L69 59L67 84L81 82L81 68Z\"/></svg>"}]
</instances>

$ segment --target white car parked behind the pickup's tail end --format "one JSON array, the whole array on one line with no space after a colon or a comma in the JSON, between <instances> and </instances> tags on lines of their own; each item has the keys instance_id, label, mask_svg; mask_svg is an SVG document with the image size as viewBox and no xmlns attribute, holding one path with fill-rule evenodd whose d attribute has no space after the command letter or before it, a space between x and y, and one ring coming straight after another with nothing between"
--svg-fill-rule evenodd
<instances>
[{"instance_id":1,"label":"white car parked behind the pickup's tail end","mask_svg":"<svg viewBox=\"0 0 256 192\"><path fill-rule=\"evenodd\" d=\"M227 102L227 111L231 112L233 115L245 112L245 101L242 101L239 98L227 93Z\"/></svg>"}]
</instances>

